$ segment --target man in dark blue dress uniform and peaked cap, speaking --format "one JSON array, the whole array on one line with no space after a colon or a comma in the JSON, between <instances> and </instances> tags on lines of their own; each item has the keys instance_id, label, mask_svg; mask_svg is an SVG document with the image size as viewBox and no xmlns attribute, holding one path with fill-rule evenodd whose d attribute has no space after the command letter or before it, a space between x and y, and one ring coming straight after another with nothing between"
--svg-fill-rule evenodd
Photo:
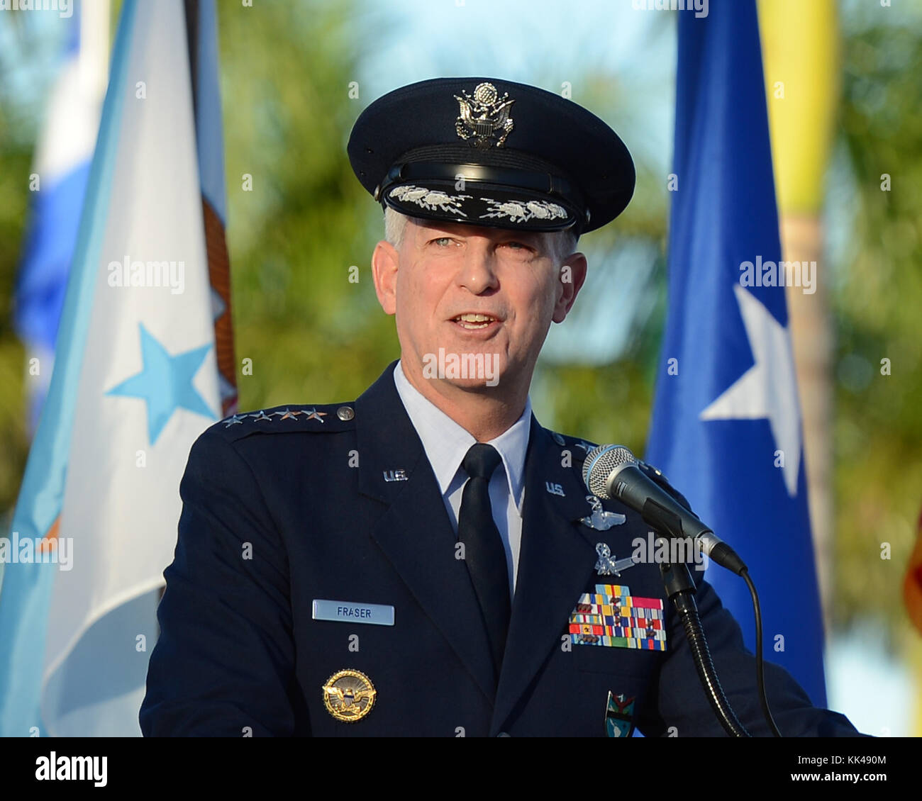
<instances>
[{"instance_id":1,"label":"man in dark blue dress uniform and peaked cap, speaking","mask_svg":"<svg viewBox=\"0 0 922 801\"><path fill-rule=\"evenodd\" d=\"M373 102L349 159L384 206L400 359L354 401L195 442L142 732L723 736L658 566L625 564L649 527L589 493L591 443L528 398L578 236L631 198L627 148L542 89L440 78ZM755 660L691 572L727 698L766 736ZM857 735L780 667L765 682L783 735Z\"/></svg>"}]
</instances>

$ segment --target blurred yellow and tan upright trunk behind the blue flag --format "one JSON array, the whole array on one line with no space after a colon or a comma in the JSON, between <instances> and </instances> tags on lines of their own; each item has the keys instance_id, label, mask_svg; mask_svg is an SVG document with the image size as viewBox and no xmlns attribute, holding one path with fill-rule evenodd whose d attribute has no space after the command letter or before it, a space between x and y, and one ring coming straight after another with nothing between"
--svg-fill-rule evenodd
<instances>
[{"instance_id":1,"label":"blurred yellow and tan upright trunk behind the blue flag","mask_svg":"<svg viewBox=\"0 0 922 801\"><path fill-rule=\"evenodd\" d=\"M829 629L832 588L832 326L820 211L839 100L839 32L833 0L759 0L781 243L800 286L787 286L798 376L810 526ZM779 275L781 271L779 271Z\"/></svg>"}]
</instances>

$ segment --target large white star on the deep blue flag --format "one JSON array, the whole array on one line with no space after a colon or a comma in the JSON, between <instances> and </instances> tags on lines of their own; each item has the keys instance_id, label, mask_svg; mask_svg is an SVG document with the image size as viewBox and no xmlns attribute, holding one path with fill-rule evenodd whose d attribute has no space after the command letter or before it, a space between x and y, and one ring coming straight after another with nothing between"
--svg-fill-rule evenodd
<instances>
[{"instance_id":1,"label":"large white star on the deep blue flag","mask_svg":"<svg viewBox=\"0 0 922 801\"><path fill-rule=\"evenodd\" d=\"M767 418L775 446L784 454L787 494L798 489L800 405L790 332L746 289L734 285L755 364L703 410L703 420Z\"/></svg>"}]
</instances>

